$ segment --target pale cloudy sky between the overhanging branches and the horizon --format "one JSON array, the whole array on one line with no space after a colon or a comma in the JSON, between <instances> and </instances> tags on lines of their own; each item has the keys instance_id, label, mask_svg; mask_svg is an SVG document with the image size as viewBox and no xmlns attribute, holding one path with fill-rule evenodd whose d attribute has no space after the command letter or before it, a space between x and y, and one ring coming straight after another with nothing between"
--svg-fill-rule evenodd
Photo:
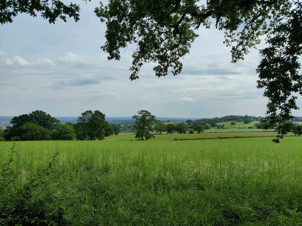
<instances>
[{"instance_id":1,"label":"pale cloudy sky between the overhanging branches and the horizon","mask_svg":"<svg viewBox=\"0 0 302 226\"><path fill-rule=\"evenodd\" d=\"M39 15L19 14L13 23L0 24L0 115L42 110L77 117L99 110L124 117L147 110L157 117L265 116L267 99L256 88L259 50L233 64L223 31L200 28L181 74L158 78L150 63L139 80L130 81L131 49L120 61L108 61L100 48L106 27L93 12L99 4L76 3L78 22L49 24ZM302 106L301 96L297 104ZM302 110L293 115L302 116Z\"/></svg>"}]
</instances>

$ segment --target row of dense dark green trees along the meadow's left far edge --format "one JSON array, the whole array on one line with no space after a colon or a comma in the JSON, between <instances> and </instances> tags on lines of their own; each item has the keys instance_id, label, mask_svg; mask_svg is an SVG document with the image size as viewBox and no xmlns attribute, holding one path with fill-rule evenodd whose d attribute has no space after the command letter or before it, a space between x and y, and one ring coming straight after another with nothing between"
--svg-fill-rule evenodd
<instances>
[{"instance_id":1,"label":"row of dense dark green trees along the meadow's left far edge","mask_svg":"<svg viewBox=\"0 0 302 226\"><path fill-rule=\"evenodd\" d=\"M109 124L105 115L96 110L85 111L77 123L61 124L59 119L44 111L15 116L11 127L4 130L4 140L104 140L104 137L119 134L120 124ZM0 134L1 135L1 134Z\"/></svg>"}]
</instances>

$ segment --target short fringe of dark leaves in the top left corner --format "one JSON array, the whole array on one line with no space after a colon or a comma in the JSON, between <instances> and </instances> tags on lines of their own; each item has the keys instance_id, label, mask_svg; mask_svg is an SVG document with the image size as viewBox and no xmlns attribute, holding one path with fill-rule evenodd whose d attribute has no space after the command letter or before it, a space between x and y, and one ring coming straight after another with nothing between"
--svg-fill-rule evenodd
<instances>
[{"instance_id":1,"label":"short fringe of dark leaves in the top left corner","mask_svg":"<svg viewBox=\"0 0 302 226\"><path fill-rule=\"evenodd\" d=\"M87 2L87 0L84 1ZM91 0L88 1L90 2ZM19 13L27 13L33 17L37 17L37 12L41 12L41 16L53 24L58 17L66 22L66 16L73 17L77 22L80 19L79 11L79 5L72 3L65 5L61 1L1 1L0 23L12 23L13 17L16 17Z\"/></svg>"}]
</instances>

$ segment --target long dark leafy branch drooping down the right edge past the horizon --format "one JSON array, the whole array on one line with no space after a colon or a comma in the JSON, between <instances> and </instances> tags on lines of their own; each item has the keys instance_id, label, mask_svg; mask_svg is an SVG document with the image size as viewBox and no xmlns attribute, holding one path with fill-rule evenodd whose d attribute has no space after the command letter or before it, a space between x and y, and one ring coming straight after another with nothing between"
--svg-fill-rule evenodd
<instances>
[{"instance_id":1,"label":"long dark leafy branch drooping down the right edge past the horizon","mask_svg":"<svg viewBox=\"0 0 302 226\"><path fill-rule=\"evenodd\" d=\"M278 136L273 140L275 143L292 131L284 122L293 117L292 109L299 109L296 94L302 95L302 74L298 72L301 66L298 59L302 54L302 3L293 1L288 15L282 18L283 23L276 24L275 29L268 33L268 47L260 51L262 61L256 70L259 74L257 87L264 88L264 96L269 99L267 116L263 121L268 126L274 123L284 125L276 128ZM301 134L299 130L294 132Z\"/></svg>"}]
</instances>

